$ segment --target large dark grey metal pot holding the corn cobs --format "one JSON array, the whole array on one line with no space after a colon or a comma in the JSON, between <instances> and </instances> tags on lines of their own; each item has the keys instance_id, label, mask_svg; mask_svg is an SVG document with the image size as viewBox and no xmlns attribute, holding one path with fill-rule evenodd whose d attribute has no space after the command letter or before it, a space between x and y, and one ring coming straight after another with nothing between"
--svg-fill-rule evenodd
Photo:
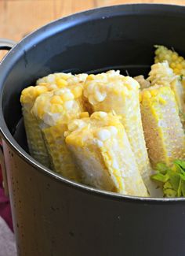
<instances>
[{"instance_id":1,"label":"large dark grey metal pot holding the corn cobs","mask_svg":"<svg viewBox=\"0 0 185 256\"><path fill-rule=\"evenodd\" d=\"M126 5L56 20L0 65L0 128L18 253L184 255L185 199L137 198L75 184L27 153L20 91L51 72L147 73L153 45L185 54L185 7Z\"/></svg>"}]
</instances>

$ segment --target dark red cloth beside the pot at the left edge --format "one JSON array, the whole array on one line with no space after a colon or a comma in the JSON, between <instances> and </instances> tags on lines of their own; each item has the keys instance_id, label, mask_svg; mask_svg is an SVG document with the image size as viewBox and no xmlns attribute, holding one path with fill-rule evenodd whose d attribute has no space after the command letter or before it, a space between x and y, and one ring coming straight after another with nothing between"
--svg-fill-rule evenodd
<instances>
[{"instance_id":1,"label":"dark red cloth beside the pot at the left edge","mask_svg":"<svg viewBox=\"0 0 185 256\"><path fill-rule=\"evenodd\" d=\"M13 231L13 221L12 214L9 205L9 198L7 198L4 194L4 190L2 188L2 170L0 169L0 216L5 220L5 222L9 225L9 228Z\"/></svg>"}]
</instances>

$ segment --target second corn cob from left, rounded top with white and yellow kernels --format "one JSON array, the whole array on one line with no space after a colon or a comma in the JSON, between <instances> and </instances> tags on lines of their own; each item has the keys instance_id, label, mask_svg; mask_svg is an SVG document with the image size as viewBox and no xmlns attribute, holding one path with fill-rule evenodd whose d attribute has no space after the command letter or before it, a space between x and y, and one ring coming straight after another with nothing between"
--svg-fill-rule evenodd
<instances>
[{"instance_id":1,"label":"second corn cob from left, rounded top with white and yellow kernels","mask_svg":"<svg viewBox=\"0 0 185 256\"><path fill-rule=\"evenodd\" d=\"M43 132L53 169L72 180L79 180L78 169L67 150L63 132L67 129L68 121L78 118L83 111L81 98L81 85L71 89L64 87L40 95L32 108Z\"/></svg>"}]
</instances>

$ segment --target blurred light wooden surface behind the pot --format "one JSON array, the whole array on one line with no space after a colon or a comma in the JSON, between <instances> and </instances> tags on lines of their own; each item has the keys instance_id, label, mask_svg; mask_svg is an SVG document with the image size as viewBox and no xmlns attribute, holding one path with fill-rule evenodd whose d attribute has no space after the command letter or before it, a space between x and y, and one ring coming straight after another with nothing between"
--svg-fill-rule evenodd
<instances>
[{"instance_id":1,"label":"blurred light wooden surface behind the pot","mask_svg":"<svg viewBox=\"0 0 185 256\"><path fill-rule=\"evenodd\" d=\"M36 28L71 13L132 2L185 5L185 0L0 0L0 37L19 41Z\"/></svg>"}]
</instances>

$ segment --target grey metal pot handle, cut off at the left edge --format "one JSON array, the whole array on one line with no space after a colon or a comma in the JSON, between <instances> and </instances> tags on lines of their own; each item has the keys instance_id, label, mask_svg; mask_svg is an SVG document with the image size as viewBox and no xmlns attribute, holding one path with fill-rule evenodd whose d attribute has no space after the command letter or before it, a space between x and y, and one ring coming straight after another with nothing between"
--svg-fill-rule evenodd
<instances>
[{"instance_id":1,"label":"grey metal pot handle, cut off at the left edge","mask_svg":"<svg viewBox=\"0 0 185 256\"><path fill-rule=\"evenodd\" d=\"M10 39L2 39L0 38L0 50L11 50L12 47L16 44L13 40ZM2 141L0 137L0 141ZM4 187L5 195L9 195L9 188L7 183L7 176L5 171L5 159L3 154L2 145L0 145L0 164L2 168L2 186Z\"/></svg>"}]
</instances>

